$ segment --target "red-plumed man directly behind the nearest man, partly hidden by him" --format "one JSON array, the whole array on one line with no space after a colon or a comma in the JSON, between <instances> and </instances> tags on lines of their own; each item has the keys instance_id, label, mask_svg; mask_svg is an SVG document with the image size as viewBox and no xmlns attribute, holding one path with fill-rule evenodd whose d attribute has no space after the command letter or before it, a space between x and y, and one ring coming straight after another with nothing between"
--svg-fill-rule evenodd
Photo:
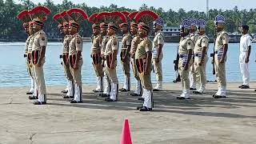
<instances>
[{"instance_id":1,"label":"red-plumed man directly behind the nearest man, partly hidden by him","mask_svg":"<svg viewBox=\"0 0 256 144\"><path fill-rule=\"evenodd\" d=\"M135 62L135 52L137 50L138 44L141 40L141 38L138 36L138 23L134 21L134 17L138 14L138 11L135 11L133 13L130 13L128 17L132 22L130 22L130 34L132 34L133 39L131 41L130 46L130 64L132 66L133 72L134 72L134 78L136 79L136 88L134 90L134 93L130 94L131 96L142 96L142 85L141 80L138 76L138 70Z\"/></svg>"}]
</instances>

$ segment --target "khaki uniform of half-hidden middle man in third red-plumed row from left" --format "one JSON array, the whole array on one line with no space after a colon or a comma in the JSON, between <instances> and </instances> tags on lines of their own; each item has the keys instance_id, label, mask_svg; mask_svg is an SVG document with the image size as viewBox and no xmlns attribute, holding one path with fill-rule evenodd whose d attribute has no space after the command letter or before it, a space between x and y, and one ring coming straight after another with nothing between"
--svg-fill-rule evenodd
<instances>
[{"instance_id":1,"label":"khaki uniform of half-hidden middle man in third red-plumed row from left","mask_svg":"<svg viewBox=\"0 0 256 144\"><path fill-rule=\"evenodd\" d=\"M104 55L105 53L105 49L106 49L106 43L108 42L109 40L109 37L107 36L103 36L102 37L102 49L101 49L101 54ZM106 71L106 67L104 66L105 65L105 61L106 60L103 60L103 72L104 72L104 90L103 90L103 94L110 94L110 90L111 90L111 84L110 84L110 78L108 77L107 75L107 71Z\"/></svg>"}]
</instances>

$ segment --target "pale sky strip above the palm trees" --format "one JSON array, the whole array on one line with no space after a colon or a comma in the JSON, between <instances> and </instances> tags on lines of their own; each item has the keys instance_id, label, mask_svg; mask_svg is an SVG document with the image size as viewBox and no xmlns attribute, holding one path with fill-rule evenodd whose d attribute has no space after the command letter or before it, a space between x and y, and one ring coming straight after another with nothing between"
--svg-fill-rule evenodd
<instances>
[{"instance_id":1,"label":"pale sky strip above the palm trees","mask_svg":"<svg viewBox=\"0 0 256 144\"><path fill-rule=\"evenodd\" d=\"M19 2L19 0L14 0ZM30 0L31 2L45 2L45 0ZM54 3L62 3L62 0L52 0ZM86 2L87 6L110 6L114 3L118 6L125 6L131 9L136 9L146 3L147 6L156 8L162 7L163 10L175 10L183 8L186 11L198 10L206 11L206 0L70 0L74 3ZM210 9L231 10L234 6L238 6L238 10L250 10L255 8L256 0L209 0Z\"/></svg>"}]
</instances>

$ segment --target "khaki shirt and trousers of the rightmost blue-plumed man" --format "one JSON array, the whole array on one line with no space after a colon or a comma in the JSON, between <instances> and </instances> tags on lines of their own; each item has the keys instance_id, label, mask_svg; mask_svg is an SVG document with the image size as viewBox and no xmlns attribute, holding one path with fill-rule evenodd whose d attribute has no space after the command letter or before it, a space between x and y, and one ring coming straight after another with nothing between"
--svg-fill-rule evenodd
<instances>
[{"instance_id":1,"label":"khaki shirt and trousers of the rightmost blue-plumed man","mask_svg":"<svg viewBox=\"0 0 256 144\"><path fill-rule=\"evenodd\" d=\"M229 36L228 34L226 34L226 31L222 30L218 33L214 46L214 66L216 70L216 78L219 87L226 87L226 58L224 63L220 63L220 60L223 55L223 46L228 43Z\"/></svg>"}]
</instances>

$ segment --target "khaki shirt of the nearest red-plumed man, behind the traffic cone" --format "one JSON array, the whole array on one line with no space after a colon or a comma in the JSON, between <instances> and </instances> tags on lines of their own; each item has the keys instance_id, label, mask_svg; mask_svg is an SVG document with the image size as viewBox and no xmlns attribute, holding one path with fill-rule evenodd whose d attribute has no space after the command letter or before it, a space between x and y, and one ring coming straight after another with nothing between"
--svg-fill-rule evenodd
<instances>
[{"instance_id":1,"label":"khaki shirt of the nearest red-plumed man, behind the traffic cone","mask_svg":"<svg viewBox=\"0 0 256 144\"><path fill-rule=\"evenodd\" d=\"M146 58L146 53L151 52L153 44L150 41L150 38L142 38L141 42L138 44L138 48L135 53L135 59Z\"/></svg>"}]
</instances>

